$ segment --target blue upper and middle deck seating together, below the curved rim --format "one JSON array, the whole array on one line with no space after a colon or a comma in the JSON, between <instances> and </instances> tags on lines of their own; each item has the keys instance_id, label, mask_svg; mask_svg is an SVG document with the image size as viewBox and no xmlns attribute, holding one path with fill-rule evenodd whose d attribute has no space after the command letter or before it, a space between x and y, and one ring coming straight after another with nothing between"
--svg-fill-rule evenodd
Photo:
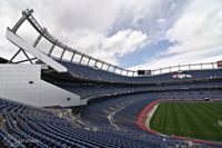
<instances>
[{"instance_id":1,"label":"blue upper and middle deck seating together, below the curved rim","mask_svg":"<svg viewBox=\"0 0 222 148\"><path fill-rule=\"evenodd\" d=\"M79 95L82 99L98 98L117 93L134 92L171 92L184 90L219 91L212 97L221 97L222 70L192 70L183 71L192 78L173 78L173 73L163 73L147 77L124 77L92 67L58 60L69 69L69 73L54 71L43 72L43 79L65 90ZM61 80L65 76L67 80ZM211 89L211 90L210 90ZM167 97L167 96L165 96ZM174 96L178 97L178 96ZM205 98L206 96L201 96Z\"/></svg>"}]
</instances>

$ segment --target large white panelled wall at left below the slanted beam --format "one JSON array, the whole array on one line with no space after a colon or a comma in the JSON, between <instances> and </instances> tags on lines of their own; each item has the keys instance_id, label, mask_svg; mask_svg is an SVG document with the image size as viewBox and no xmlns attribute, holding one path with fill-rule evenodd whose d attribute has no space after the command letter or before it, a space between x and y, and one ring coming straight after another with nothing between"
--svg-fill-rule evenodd
<instances>
[{"instance_id":1,"label":"large white panelled wall at left below the slanted beam","mask_svg":"<svg viewBox=\"0 0 222 148\"><path fill-rule=\"evenodd\" d=\"M0 65L0 97L38 107L85 103L80 96L46 82L40 77L40 65Z\"/></svg>"}]
</instances>

